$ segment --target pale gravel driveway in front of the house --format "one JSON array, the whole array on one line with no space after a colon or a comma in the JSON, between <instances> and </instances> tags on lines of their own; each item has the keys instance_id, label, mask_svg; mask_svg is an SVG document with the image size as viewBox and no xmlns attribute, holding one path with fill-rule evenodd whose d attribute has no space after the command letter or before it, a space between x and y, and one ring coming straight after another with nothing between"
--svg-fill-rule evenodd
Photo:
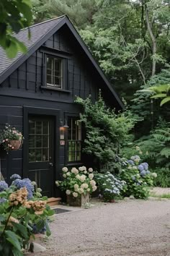
<instances>
[{"instance_id":1,"label":"pale gravel driveway in front of the house","mask_svg":"<svg viewBox=\"0 0 170 256\"><path fill-rule=\"evenodd\" d=\"M170 256L170 200L103 203L55 215L50 226L40 256Z\"/></svg>"}]
</instances>

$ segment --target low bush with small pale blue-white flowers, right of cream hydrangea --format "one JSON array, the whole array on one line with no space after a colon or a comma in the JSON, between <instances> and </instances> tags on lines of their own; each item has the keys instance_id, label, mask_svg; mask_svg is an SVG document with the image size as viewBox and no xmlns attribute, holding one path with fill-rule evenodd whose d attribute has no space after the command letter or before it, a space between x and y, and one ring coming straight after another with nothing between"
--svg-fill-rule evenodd
<instances>
[{"instance_id":1,"label":"low bush with small pale blue-white flowers, right of cream hydrangea","mask_svg":"<svg viewBox=\"0 0 170 256\"><path fill-rule=\"evenodd\" d=\"M120 192L125 190L126 182L120 181L114 175L107 171L107 174L95 174L99 192L102 194L104 201L114 200L120 197Z\"/></svg>"}]
</instances>

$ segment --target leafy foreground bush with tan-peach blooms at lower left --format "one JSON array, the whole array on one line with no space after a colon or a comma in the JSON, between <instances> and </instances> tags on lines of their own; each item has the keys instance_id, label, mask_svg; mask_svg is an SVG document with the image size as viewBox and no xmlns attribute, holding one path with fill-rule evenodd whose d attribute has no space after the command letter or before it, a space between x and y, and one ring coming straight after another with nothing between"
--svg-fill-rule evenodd
<instances>
[{"instance_id":1,"label":"leafy foreground bush with tan-peach blooms at lower left","mask_svg":"<svg viewBox=\"0 0 170 256\"><path fill-rule=\"evenodd\" d=\"M50 235L48 217L53 215L53 210L46 205L47 197L37 199L33 185L30 200L27 188L18 188L14 183L17 179L22 181L20 176L14 174L11 178L10 187L6 182L0 182L0 255L22 256L30 236L34 237L34 225L37 230L45 227L46 234Z\"/></svg>"}]
</instances>

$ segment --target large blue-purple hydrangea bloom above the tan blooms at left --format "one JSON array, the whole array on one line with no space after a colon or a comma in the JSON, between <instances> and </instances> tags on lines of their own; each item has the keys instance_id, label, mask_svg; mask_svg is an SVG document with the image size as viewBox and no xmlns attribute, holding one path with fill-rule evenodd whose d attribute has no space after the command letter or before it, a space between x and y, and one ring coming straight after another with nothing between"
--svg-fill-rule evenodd
<instances>
[{"instance_id":1,"label":"large blue-purple hydrangea bloom above the tan blooms at left","mask_svg":"<svg viewBox=\"0 0 170 256\"><path fill-rule=\"evenodd\" d=\"M30 179L15 179L14 182L12 182L12 185L16 186L18 189L26 187L28 199L33 197L34 186L32 185Z\"/></svg>"}]
</instances>

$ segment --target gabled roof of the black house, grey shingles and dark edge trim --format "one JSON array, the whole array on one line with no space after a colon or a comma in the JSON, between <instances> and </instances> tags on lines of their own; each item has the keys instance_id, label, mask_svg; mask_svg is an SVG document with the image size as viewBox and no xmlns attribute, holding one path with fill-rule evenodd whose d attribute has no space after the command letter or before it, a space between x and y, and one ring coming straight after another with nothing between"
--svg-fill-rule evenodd
<instances>
[{"instance_id":1,"label":"gabled roof of the black house, grey shingles and dark edge trim","mask_svg":"<svg viewBox=\"0 0 170 256\"><path fill-rule=\"evenodd\" d=\"M63 27L63 25L67 25L68 28L71 30L71 33L78 41L82 50L85 52L86 56L94 65L94 68L97 70L100 77L102 77L102 80L107 85L109 90L115 96L117 103L120 105L121 108L124 108L119 96L112 88L112 85L110 85L109 81L102 72L102 69L99 67L99 64L97 64L97 62L94 60L86 44L81 39L81 36L76 31L75 27L73 27L73 24L66 15L30 26L30 39L28 38L28 28L20 30L19 33L17 33L16 37L17 39L21 40L25 44L25 46L27 46L27 54L22 54L19 52L14 59L9 59L6 56L4 49L0 47L0 84L7 77L9 77L9 75L12 74L12 72L14 72L14 70L16 70L24 61L26 61L35 51L37 51L37 49L40 48L40 46L42 46L42 44L45 43L46 40L48 40L48 38L50 38L55 32Z\"/></svg>"}]
</instances>

